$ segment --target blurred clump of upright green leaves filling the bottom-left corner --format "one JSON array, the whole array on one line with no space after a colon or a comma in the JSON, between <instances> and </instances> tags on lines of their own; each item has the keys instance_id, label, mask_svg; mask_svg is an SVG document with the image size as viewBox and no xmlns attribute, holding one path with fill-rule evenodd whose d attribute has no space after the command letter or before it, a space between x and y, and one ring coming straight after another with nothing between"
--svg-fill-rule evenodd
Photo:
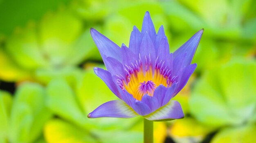
<instances>
[{"instance_id":1,"label":"blurred clump of upright green leaves filling the bottom-left corner","mask_svg":"<svg viewBox=\"0 0 256 143\"><path fill-rule=\"evenodd\" d=\"M22 83L14 97L1 91L1 138L11 143L34 142L41 136L45 122L52 117L46 108L45 88Z\"/></svg>"}]
</instances>

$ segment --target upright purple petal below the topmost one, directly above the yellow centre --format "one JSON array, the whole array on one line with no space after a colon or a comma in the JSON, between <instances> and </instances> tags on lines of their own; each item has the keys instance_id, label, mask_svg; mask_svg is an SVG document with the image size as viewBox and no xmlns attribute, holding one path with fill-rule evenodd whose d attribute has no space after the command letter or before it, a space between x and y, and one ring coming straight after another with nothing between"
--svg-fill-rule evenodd
<instances>
[{"instance_id":1,"label":"upright purple petal below the topmost one, directly above the yellow centre","mask_svg":"<svg viewBox=\"0 0 256 143\"><path fill-rule=\"evenodd\" d=\"M149 65L155 65L155 48L147 32L142 39L139 54L143 69L149 69ZM146 65L148 66L146 67Z\"/></svg>"}]
</instances>

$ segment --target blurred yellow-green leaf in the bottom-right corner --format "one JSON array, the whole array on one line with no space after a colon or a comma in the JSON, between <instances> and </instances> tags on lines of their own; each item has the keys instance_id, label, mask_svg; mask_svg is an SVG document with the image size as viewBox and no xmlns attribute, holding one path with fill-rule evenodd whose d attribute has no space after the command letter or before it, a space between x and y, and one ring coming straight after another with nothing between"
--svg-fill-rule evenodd
<instances>
[{"instance_id":1,"label":"blurred yellow-green leaf in the bottom-right corner","mask_svg":"<svg viewBox=\"0 0 256 143\"><path fill-rule=\"evenodd\" d=\"M255 124L224 128L213 137L211 143L253 143L255 134Z\"/></svg>"}]
</instances>

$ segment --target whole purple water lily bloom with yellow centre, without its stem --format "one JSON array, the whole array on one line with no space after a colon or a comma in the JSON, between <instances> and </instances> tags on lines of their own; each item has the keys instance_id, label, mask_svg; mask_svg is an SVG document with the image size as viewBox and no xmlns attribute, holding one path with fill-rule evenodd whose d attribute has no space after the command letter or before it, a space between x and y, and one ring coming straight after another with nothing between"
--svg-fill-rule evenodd
<instances>
[{"instance_id":1,"label":"whole purple water lily bloom with yellow centre, without its stem","mask_svg":"<svg viewBox=\"0 0 256 143\"><path fill-rule=\"evenodd\" d=\"M195 33L174 53L170 53L164 27L158 32L146 12L141 32L136 26L130 35L129 48L121 48L91 28L91 35L106 65L94 68L120 100L106 102L88 115L90 118L131 118L138 115L151 121L184 117L180 103L171 100L186 85L195 71L191 64L203 29Z\"/></svg>"}]
</instances>

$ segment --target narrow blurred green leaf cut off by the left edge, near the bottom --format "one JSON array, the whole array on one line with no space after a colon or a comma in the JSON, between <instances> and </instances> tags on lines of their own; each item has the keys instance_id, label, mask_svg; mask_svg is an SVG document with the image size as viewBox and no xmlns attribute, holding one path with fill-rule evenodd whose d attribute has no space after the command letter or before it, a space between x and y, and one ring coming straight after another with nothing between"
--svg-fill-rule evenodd
<instances>
[{"instance_id":1,"label":"narrow blurred green leaf cut off by the left edge, near the bottom","mask_svg":"<svg viewBox=\"0 0 256 143\"><path fill-rule=\"evenodd\" d=\"M0 138L7 139L12 97L5 91L0 91Z\"/></svg>"}]
</instances>

